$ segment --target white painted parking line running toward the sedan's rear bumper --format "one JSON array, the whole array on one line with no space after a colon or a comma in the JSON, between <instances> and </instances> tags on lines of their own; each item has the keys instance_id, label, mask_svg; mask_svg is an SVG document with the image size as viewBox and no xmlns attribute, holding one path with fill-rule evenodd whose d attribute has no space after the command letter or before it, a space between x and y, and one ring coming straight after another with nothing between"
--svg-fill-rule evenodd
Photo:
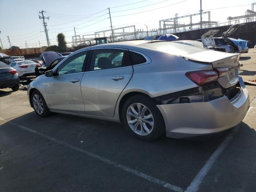
<instances>
[{"instance_id":1,"label":"white painted parking line running toward the sedan's rear bumper","mask_svg":"<svg viewBox=\"0 0 256 192\"><path fill-rule=\"evenodd\" d=\"M234 130L226 137L226 139L218 146L218 148L215 150L215 152L210 156L206 164L202 167L200 172L196 175L194 180L190 183L188 188L186 188L185 192L196 192L202 183L202 180L204 179L204 176L208 173L214 162L217 160L217 158L220 156L222 151L228 146L229 142L234 137L234 134L238 131L240 124L238 124Z\"/></svg>"}]
</instances>

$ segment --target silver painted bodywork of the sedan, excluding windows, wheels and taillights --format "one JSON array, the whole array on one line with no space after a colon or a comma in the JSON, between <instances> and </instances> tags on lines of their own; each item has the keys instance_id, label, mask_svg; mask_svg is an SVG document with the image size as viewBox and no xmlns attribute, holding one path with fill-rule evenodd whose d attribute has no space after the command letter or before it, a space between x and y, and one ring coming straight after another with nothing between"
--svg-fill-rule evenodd
<instances>
[{"instance_id":1,"label":"silver painted bodywork of the sedan, excluding windows, wheels and taillights","mask_svg":"<svg viewBox=\"0 0 256 192\"><path fill-rule=\"evenodd\" d=\"M212 70L215 67L235 69L238 64L236 60L240 56L180 44L177 41L155 43L145 40L92 46L74 52L70 56L94 48L128 49L144 55L147 62L72 74L72 77L75 75L80 79L80 83L77 84L68 82L71 79L70 75L59 77L63 79L38 76L29 84L28 96L36 89L41 92L52 112L120 122L119 105L127 94L139 92L155 98L196 88L198 86L185 76L186 72ZM53 70L56 70L67 58ZM124 78L118 81L112 80L116 75ZM63 84L60 85L58 81L62 80ZM235 74L233 79L229 79L229 74L219 79L219 83L227 87L237 81L238 74ZM58 96L52 98L52 94ZM219 132L238 124L248 109L248 98L247 90L243 87L233 101L223 96L210 102L158 104L157 107L164 117L167 136L187 137L188 134ZM207 122L208 126L206 126Z\"/></svg>"}]
</instances>

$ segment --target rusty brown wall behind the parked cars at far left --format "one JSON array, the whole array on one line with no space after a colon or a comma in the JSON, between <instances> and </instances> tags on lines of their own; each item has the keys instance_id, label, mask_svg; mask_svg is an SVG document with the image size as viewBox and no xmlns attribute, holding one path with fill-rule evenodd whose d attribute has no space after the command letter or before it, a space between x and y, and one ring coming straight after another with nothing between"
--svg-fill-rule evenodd
<instances>
[{"instance_id":1,"label":"rusty brown wall behind the parked cars at far left","mask_svg":"<svg viewBox=\"0 0 256 192\"><path fill-rule=\"evenodd\" d=\"M9 56L25 56L25 58L38 58L42 52L45 51L44 48L28 48L28 49L15 49L15 50L4 50L2 53Z\"/></svg>"}]
</instances>

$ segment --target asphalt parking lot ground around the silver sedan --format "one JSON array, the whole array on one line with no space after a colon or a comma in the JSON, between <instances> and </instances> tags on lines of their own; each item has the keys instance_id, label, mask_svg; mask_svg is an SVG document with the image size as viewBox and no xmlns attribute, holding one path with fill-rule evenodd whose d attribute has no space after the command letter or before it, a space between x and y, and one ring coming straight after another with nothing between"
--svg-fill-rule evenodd
<instances>
[{"instance_id":1,"label":"asphalt parking lot ground around the silver sedan","mask_svg":"<svg viewBox=\"0 0 256 192\"><path fill-rule=\"evenodd\" d=\"M240 73L254 78L256 49L242 56ZM25 90L2 89L0 192L254 192L256 86L247 88L250 108L233 129L154 142L137 140L113 122L64 114L40 118Z\"/></svg>"}]
</instances>

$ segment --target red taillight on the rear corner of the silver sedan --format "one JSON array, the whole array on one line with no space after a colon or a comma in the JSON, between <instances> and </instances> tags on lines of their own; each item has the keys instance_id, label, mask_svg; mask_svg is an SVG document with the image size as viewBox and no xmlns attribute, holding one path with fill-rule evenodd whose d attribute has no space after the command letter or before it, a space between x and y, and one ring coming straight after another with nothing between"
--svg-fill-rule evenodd
<instances>
[{"instance_id":1,"label":"red taillight on the rear corner of the silver sedan","mask_svg":"<svg viewBox=\"0 0 256 192\"><path fill-rule=\"evenodd\" d=\"M199 86L218 80L218 72L214 70L186 72L185 75Z\"/></svg>"}]
</instances>

